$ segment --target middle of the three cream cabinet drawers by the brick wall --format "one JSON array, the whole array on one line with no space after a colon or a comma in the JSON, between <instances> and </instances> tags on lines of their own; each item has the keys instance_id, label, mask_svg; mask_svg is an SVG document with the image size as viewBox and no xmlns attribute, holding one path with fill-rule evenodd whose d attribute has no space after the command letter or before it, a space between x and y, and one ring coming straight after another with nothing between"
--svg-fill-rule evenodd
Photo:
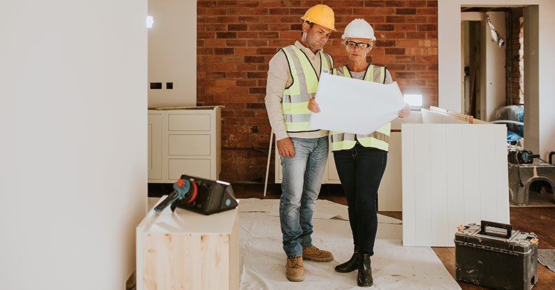
<instances>
[{"instance_id":1,"label":"middle of the three cream cabinet drawers by the brick wall","mask_svg":"<svg viewBox=\"0 0 555 290\"><path fill-rule=\"evenodd\" d=\"M168 155L210 155L210 135L169 135Z\"/></svg>"}]
</instances>

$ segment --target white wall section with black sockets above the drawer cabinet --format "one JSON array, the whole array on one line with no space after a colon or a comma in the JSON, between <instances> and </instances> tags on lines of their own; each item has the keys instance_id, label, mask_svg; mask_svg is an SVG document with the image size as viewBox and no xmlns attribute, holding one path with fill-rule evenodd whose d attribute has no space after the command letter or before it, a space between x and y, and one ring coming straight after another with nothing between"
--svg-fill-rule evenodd
<instances>
[{"instance_id":1,"label":"white wall section with black sockets above the drawer cabinet","mask_svg":"<svg viewBox=\"0 0 555 290\"><path fill-rule=\"evenodd\" d=\"M196 1L150 0L148 15L148 83L162 83L148 86L148 108L196 106Z\"/></svg>"}]
</instances>

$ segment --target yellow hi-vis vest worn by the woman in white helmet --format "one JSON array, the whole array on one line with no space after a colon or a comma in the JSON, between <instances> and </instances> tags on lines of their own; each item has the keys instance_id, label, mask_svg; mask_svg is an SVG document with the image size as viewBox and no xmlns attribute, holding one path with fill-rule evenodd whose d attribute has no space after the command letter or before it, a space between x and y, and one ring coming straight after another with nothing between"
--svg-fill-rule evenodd
<instances>
[{"instance_id":1,"label":"yellow hi-vis vest worn by the woman in white helmet","mask_svg":"<svg viewBox=\"0 0 555 290\"><path fill-rule=\"evenodd\" d=\"M332 74L352 78L347 66L333 69ZM384 83L386 79L386 68L369 65L363 79L369 82ZM391 123L386 123L373 133L366 135L330 131L330 134L332 135L332 151L345 150L355 147L357 140L362 146L388 151L390 132Z\"/></svg>"}]
</instances>

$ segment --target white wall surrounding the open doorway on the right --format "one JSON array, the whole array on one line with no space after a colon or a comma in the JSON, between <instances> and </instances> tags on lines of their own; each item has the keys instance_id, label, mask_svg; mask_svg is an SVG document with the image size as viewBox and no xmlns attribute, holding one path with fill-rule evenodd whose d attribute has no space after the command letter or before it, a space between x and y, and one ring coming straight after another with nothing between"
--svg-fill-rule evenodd
<instances>
[{"instance_id":1,"label":"white wall surrounding the open doorway on the right","mask_svg":"<svg viewBox=\"0 0 555 290\"><path fill-rule=\"evenodd\" d=\"M539 6L539 76L538 76L538 127L527 130L538 133L538 149L545 159L555 146L555 1L552 0L439 0L438 1L438 76L439 106L461 112L461 5L464 6ZM526 104L524 105L526 107ZM534 133L534 132L531 132ZM534 148L531 148L534 150Z\"/></svg>"}]
</instances>

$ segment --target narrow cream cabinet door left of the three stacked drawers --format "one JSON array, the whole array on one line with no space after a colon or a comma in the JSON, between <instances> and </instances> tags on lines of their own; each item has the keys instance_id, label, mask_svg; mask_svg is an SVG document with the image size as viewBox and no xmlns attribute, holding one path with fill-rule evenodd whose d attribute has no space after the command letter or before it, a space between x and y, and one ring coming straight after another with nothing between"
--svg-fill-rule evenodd
<instances>
[{"instance_id":1,"label":"narrow cream cabinet door left of the three stacked drawers","mask_svg":"<svg viewBox=\"0 0 555 290\"><path fill-rule=\"evenodd\" d=\"M162 180L162 114L148 114L148 180Z\"/></svg>"}]
</instances>

